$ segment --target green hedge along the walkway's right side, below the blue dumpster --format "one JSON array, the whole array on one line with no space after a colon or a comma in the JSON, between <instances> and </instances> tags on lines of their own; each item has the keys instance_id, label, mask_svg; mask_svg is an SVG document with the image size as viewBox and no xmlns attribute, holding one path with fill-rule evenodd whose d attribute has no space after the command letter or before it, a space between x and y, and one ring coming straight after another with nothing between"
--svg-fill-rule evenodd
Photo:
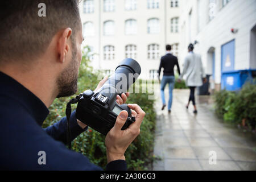
<instances>
[{"instance_id":1,"label":"green hedge along the walkway's right side, below the blue dumpster","mask_svg":"<svg viewBox=\"0 0 256 182\"><path fill-rule=\"evenodd\" d=\"M239 92L221 90L214 94L215 111L225 122L254 130L256 125L256 85L247 83Z\"/></svg>"}]
</instances>

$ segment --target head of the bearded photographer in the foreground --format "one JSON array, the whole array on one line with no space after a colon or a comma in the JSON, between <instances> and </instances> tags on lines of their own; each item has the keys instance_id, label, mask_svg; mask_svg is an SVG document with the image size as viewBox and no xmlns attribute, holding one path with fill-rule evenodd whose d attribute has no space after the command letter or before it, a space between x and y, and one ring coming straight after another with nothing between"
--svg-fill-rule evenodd
<instances>
[{"instance_id":1,"label":"head of the bearded photographer in the foreground","mask_svg":"<svg viewBox=\"0 0 256 182\"><path fill-rule=\"evenodd\" d=\"M45 17L39 16L40 3L46 5ZM45 66L52 65L58 73L58 97L74 94L82 42L78 4L77 0L2 0L0 67L19 64L28 70L44 59Z\"/></svg>"}]
</instances>

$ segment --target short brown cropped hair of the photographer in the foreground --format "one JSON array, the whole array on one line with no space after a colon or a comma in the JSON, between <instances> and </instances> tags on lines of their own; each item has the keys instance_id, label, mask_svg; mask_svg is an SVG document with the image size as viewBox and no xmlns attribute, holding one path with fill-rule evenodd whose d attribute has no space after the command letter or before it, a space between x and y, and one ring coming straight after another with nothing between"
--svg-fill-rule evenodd
<instances>
[{"instance_id":1,"label":"short brown cropped hair of the photographer in the foreground","mask_svg":"<svg viewBox=\"0 0 256 182\"><path fill-rule=\"evenodd\" d=\"M38 15L39 3L46 17ZM77 0L1 0L0 7L0 64L35 59L58 31L72 28L73 39L81 27Z\"/></svg>"}]
</instances>

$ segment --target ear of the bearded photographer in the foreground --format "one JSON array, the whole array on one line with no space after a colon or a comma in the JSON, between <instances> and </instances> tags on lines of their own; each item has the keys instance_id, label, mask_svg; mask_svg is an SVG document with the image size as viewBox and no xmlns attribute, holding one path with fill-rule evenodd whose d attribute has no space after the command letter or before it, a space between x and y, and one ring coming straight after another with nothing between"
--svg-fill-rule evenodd
<instances>
[{"instance_id":1,"label":"ear of the bearded photographer in the foreground","mask_svg":"<svg viewBox=\"0 0 256 182\"><path fill-rule=\"evenodd\" d=\"M65 28L63 31L61 31L61 34L59 36L58 40L58 61L61 61L64 63L65 61L65 56L67 55L69 51L69 45L67 43L68 39L70 38L72 34L72 29L71 28Z\"/></svg>"}]
</instances>

